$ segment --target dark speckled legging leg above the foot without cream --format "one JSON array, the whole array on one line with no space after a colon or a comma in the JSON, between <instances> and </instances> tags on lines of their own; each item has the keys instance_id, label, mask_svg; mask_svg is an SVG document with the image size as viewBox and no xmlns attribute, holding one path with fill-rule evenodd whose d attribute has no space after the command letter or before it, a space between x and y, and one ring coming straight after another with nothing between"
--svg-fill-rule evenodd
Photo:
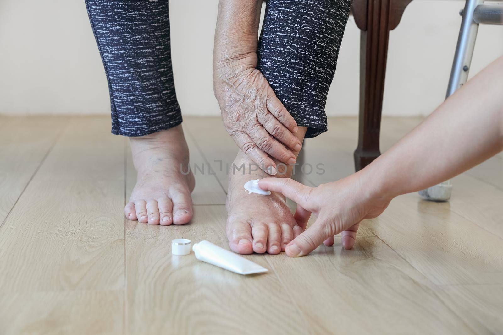
<instances>
[{"instance_id":1,"label":"dark speckled legging leg above the foot without cream","mask_svg":"<svg viewBox=\"0 0 503 335\"><path fill-rule=\"evenodd\" d=\"M182 123L166 0L86 0L105 66L112 133L143 136Z\"/></svg>"}]
</instances>

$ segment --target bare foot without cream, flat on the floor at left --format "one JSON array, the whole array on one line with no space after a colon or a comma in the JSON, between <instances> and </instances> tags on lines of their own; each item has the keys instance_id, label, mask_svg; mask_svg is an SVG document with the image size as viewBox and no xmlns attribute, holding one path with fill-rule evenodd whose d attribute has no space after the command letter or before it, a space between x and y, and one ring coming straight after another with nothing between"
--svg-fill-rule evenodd
<instances>
[{"instance_id":1,"label":"bare foot without cream, flat on the floor at left","mask_svg":"<svg viewBox=\"0 0 503 335\"><path fill-rule=\"evenodd\" d=\"M130 138L138 178L124 213L149 225L183 225L192 218L195 181L182 126Z\"/></svg>"}]
</instances>

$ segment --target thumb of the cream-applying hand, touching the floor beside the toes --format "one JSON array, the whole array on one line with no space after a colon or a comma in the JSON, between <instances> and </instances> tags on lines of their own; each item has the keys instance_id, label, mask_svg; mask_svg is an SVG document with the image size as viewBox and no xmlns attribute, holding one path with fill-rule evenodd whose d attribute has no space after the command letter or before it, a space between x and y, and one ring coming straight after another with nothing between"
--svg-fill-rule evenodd
<instances>
[{"instance_id":1,"label":"thumb of the cream-applying hand, touching the floor beside the toes","mask_svg":"<svg viewBox=\"0 0 503 335\"><path fill-rule=\"evenodd\" d=\"M300 257L309 254L326 239L333 237L328 229L319 219L314 224L306 229L306 231L290 242L286 248L286 254L290 257Z\"/></svg>"}]
</instances>

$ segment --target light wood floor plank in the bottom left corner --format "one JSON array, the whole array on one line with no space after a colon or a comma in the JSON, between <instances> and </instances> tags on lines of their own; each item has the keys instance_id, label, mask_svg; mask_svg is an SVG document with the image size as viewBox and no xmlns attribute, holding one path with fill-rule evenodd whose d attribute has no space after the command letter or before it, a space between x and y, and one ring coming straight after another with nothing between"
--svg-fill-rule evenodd
<instances>
[{"instance_id":1,"label":"light wood floor plank in the bottom left corner","mask_svg":"<svg viewBox=\"0 0 503 335\"><path fill-rule=\"evenodd\" d=\"M0 333L121 334L123 299L121 291L0 293Z\"/></svg>"}]
</instances>

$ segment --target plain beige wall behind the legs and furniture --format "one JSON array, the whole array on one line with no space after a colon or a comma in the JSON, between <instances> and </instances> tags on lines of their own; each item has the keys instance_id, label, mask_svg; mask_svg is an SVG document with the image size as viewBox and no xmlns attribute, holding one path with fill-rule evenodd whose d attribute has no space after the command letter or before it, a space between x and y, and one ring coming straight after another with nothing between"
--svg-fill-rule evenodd
<instances>
[{"instance_id":1,"label":"plain beige wall behind the legs and furniture","mask_svg":"<svg viewBox=\"0 0 503 335\"><path fill-rule=\"evenodd\" d=\"M459 0L415 0L390 34L386 115L442 102L461 18ZM186 115L218 115L211 56L216 0L172 0L173 63ZM327 113L358 111L359 31L352 18ZM471 74L503 55L503 27L481 26ZM83 0L0 0L0 113L108 114L108 89Z\"/></svg>"}]
</instances>

